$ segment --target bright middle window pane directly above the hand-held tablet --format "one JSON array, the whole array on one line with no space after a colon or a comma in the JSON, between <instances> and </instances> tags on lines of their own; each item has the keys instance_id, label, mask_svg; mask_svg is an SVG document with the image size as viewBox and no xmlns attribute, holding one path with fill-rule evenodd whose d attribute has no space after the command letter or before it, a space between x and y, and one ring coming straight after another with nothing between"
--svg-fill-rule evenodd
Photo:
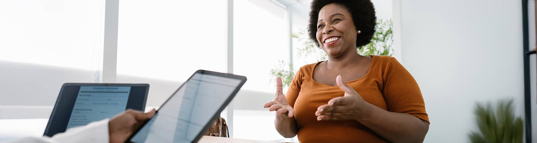
<instances>
[{"instance_id":1,"label":"bright middle window pane directly above the hand-held tablet","mask_svg":"<svg viewBox=\"0 0 537 143\"><path fill-rule=\"evenodd\" d=\"M226 1L121 1L117 73L185 81L198 69L226 72L226 24Z\"/></svg>"}]
</instances>

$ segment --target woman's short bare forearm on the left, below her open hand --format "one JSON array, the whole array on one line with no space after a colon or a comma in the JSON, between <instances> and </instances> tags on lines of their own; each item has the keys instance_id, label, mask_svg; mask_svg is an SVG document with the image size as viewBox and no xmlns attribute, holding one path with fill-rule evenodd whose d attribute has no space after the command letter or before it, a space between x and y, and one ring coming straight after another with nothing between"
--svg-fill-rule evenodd
<instances>
[{"instance_id":1,"label":"woman's short bare forearm on the left, below her open hand","mask_svg":"<svg viewBox=\"0 0 537 143\"><path fill-rule=\"evenodd\" d=\"M289 118L287 116L276 114L274 126L276 127L276 131L285 138L293 138L298 133L295 117Z\"/></svg>"}]
</instances>

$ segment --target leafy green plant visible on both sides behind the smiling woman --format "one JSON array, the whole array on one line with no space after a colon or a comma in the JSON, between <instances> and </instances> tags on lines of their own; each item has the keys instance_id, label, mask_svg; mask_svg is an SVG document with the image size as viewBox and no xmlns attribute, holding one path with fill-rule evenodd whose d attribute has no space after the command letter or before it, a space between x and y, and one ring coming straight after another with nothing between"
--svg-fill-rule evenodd
<instances>
[{"instance_id":1,"label":"leafy green plant visible on both sides behind the smiling woman","mask_svg":"<svg viewBox=\"0 0 537 143\"><path fill-rule=\"evenodd\" d=\"M376 25L377 28L373 34L371 42L366 46L357 47L356 51L360 55L393 55L394 50L391 48L394 43L392 31L393 22L391 19L379 19L376 21ZM299 57L314 55L317 57L317 62L324 61L326 58L328 58L326 53L321 48L318 48L314 41L309 39L309 36L304 29L301 29L297 33L291 34L291 37L303 44L303 47L297 48L297 54ZM286 64L284 61L279 61L279 64L276 66L276 68L271 69L270 74L273 79L275 77L280 77L284 88L286 88L291 84L291 81L295 76L295 72L296 71L293 70L291 63Z\"/></svg>"}]
</instances>

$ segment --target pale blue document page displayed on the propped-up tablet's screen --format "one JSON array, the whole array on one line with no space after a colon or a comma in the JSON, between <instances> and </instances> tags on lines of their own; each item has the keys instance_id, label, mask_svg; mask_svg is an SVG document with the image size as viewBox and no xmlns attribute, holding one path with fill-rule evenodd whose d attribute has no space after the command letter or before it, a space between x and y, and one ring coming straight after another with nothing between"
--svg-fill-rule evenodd
<instances>
[{"instance_id":1,"label":"pale blue document page displayed on the propped-up tablet's screen","mask_svg":"<svg viewBox=\"0 0 537 143\"><path fill-rule=\"evenodd\" d=\"M129 92L130 86L81 86L67 129L124 112Z\"/></svg>"}]
</instances>

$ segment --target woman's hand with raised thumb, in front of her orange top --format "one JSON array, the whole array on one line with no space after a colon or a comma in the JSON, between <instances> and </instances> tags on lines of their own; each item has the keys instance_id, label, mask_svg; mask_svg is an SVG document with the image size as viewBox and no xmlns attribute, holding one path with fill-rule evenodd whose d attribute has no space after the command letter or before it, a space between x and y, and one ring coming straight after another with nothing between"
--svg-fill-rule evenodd
<instances>
[{"instance_id":1,"label":"woman's hand with raised thumb, in front of her orange top","mask_svg":"<svg viewBox=\"0 0 537 143\"><path fill-rule=\"evenodd\" d=\"M342 97L335 97L328 101L328 104L324 104L317 108L315 115L317 121L328 120L347 120L356 119L359 120L362 117L367 116L370 106L372 104L364 101L362 96L358 94L350 86L346 85L341 76L336 77L336 83L341 88L345 95Z\"/></svg>"}]
</instances>

